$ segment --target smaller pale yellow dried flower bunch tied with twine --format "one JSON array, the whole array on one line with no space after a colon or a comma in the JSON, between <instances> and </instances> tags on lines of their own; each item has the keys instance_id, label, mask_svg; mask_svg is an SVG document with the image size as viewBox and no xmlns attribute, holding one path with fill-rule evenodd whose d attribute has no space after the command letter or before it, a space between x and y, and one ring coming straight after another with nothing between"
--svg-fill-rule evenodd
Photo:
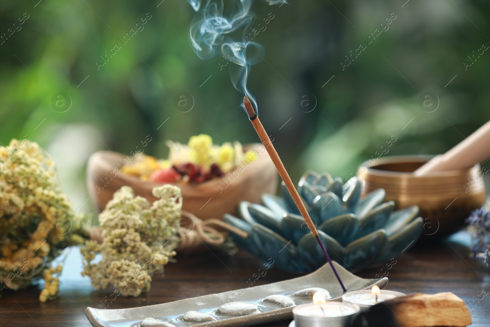
<instances>
[{"instance_id":1,"label":"smaller pale yellow dried flower bunch tied with twine","mask_svg":"<svg viewBox=\"0 0 490 327\"><path fill-rule=\"evenodd\" d=\"M163 272L175 255L180 242L180 188L166 184L152 193L160 200L150 205L147 199L135 197L131 187L123 186L98 216L102 243L87 241L81 249L82 275L89 276L96 289L113 286L116 296L139 296L149 290L152 273ZM95 257L98 253L100 261Z\"/></svg>"}]
</instances>

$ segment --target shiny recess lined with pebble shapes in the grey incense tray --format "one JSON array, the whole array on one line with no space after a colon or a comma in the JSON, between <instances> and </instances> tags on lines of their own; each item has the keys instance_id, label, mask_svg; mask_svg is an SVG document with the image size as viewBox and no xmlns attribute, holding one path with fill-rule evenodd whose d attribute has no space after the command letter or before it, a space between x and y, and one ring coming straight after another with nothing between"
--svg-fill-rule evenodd
<instances>
[{"instance_id":1,"label":"shiny recess lined with pebble shapes in the grey incense tray","mask_svg":"<svg viewBox=\"0 0 490 327\"><path fill-rule=\"evenodd\" d=\"M320 292L325 299L331 299L330 293L320 287L309 287L296 292L270 295L258 301L228 302L218 308L188 311L177 317L162 317L161 320L153 317L145 318L134 327L184 327L194 324L213 322L233 317L253 315L261 312L279 310L294 305L311 303L313 294Z\"/></svg>"}]
</instances>

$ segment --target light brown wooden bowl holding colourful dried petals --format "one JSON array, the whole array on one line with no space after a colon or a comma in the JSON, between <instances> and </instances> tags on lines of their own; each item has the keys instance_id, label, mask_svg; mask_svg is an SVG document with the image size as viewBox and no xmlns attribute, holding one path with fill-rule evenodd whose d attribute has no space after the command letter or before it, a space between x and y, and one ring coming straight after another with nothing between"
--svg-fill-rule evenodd
<instances>
[{"instance_id":1,"label":"light brown wooden bowl holding colourful dried petals","mask_svg":"<svg viewBox=\"0 0 490 327\"><path fill-rule=\"evenodd\" d=\"M242 167L241 173L236 170L200 184L171 183L182 191L182 210L201 219L221 219L225 213L236 214L240 201L259 203L263 193L273 193L277 188L278 174L267 151L262 144L245 145L244 149L255 150L259 155L248 166ZM88 160L87 189L98 212L124 185L131 186L135 195L147 198L150 203L157 200L151 190L164 183L142 181L136 176L118 173L124 158L126 155L122 153L97 151Z\"/></svg>"}]
</instances>

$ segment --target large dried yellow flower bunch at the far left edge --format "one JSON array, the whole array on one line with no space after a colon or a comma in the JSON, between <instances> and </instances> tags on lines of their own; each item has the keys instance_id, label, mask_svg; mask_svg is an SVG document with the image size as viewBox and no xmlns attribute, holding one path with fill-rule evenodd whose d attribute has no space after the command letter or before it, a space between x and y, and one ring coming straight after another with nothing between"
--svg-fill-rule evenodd
<instances>
[{"instance_id":1,"label":"large dried yellow flower bunch at the far left edge","mask_svg":"<svg viewBox=\"0 0 490 327\"><path fill-rule=\"evenodd\" d=\"M0 147L0 290L22 289L43 277L40 300L58 296L52 274L61 268L51 269L51 261L67 246L84 242L87 219L75 216L56 174L56 165L35 142L13 139Z\"/></svg>"}]
</instances>

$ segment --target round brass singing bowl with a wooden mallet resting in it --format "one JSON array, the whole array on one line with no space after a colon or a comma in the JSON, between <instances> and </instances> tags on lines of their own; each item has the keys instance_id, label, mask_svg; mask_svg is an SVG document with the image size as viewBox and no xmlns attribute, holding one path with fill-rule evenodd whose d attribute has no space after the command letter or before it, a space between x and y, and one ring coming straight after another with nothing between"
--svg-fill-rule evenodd
<instances>
[{"instance_id":1,"label":"round brass singing bowl with a wooden mallet resting in it","mask_svg":"<svg viewBox=\"0 0 490 327\"><path fill-rule=\"evenodd\" d=\"M469 169L433 172L427 176L412 173L431 159L429 155L388 156L366 161L360 168L363 194L384 188L385 201L401 209L418 205L424 219L423 237L442 237L465 225L465 219L483 205L485 183L480 165Z\"/></svg>"}]
</instances>

